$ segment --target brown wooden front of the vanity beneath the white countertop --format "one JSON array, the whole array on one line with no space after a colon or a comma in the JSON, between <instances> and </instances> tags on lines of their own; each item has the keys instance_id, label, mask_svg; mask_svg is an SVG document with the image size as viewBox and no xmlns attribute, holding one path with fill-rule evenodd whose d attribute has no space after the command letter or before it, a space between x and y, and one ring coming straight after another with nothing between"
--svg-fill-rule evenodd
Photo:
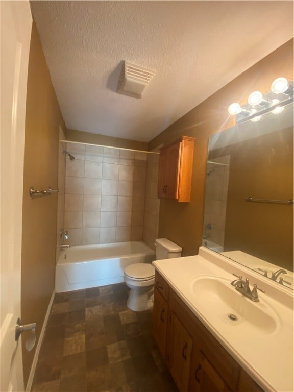
<instances>
[{"instance_id":1,"label":"brown wooden front of the vanity beneath the white countertop","mask_svg":"<svg viewBox=\"0 0 294 392\"><path fill-rule=\"evenodd\" d=\"M263 392L158 272L155 285L153 333L180 392Z\"/></svg>"}]
</instances>

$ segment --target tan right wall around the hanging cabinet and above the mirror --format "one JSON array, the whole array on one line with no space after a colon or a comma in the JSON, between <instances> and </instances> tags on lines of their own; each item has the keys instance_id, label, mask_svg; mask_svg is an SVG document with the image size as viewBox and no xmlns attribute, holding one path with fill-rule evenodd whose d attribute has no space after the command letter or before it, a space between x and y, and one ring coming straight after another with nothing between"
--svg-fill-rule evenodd
<instances>
[{"instance_id":1,"label":"tan right wall around the hanging cabinet and above the mirror","mask_svg":"<svg viewBox=\"0 0 294 392\"><path fill-rule=\"evenodd\" d=\"M293 79L293 39L279 47L228 85L211 95L168 127L148 144L153 150L181 135L196 138L190 203L160 201L159 237L167 237L183 247L183 256L197 254L202 240L205 169L208 138L234 125L228 114L232 102L245 103L254 90L267 92L279 76ZM197 94L197 86L195 94Z\"/></svg>"}]
</instances>

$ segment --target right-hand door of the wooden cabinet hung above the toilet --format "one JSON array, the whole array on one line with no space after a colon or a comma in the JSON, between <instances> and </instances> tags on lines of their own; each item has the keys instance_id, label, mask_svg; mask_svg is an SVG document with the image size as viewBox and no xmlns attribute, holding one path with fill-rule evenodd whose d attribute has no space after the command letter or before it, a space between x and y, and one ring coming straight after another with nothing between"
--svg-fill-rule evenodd
<instances>
[{"instance_id":1,"label":"right-hand door of the wooden cabinet hung above the toilet","mask_svg":"<svg viewBox=\"0 0 294 392\"><path fill-rule=\"evenodd\" d=\"M167 199L178 199L179 176L181 164L181 145L182 142L175 143L168 148L167 166Z\"/></svg>"}]
</instances>

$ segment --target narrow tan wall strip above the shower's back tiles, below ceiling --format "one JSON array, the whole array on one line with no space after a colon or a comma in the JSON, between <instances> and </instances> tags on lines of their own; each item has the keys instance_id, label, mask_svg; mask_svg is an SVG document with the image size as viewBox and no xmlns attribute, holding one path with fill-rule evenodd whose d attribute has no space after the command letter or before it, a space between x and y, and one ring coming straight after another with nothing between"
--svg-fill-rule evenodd
<instances>
[{"instance_id":1,"label":"narrow tan wall strip above the shower's back tiles, below ceiling","mask_svg":"<svg viewBox=\"0 0 294 392\"><path fill-rule=\"evenodd\" d=\"M65 130L66 140L79 141L81 143L109 145L111 147L120 147L122 149L148 150L148 143L120 137L97 135L95 133L78 131L75 129Z\"/></svg>"}]
</instances>

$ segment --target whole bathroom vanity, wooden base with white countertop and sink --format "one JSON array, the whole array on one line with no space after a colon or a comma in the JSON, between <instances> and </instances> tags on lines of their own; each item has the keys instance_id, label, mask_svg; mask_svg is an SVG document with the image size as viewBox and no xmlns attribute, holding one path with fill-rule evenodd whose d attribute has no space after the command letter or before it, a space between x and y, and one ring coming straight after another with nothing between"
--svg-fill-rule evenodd
<instances>
[{"instance_id":1,"label":"whole bathroom vanity, wooden base with white countertop and sink","mask_svg":"<svg viewBox=\"0 0 294 392\"><path fill-rule=\"evenodd\" d=\"M290 290L205 248L153 265L153 332L180 391L293 390ZM266 291L259 302L233 274Z\"/></svg>"}]
</instances>

